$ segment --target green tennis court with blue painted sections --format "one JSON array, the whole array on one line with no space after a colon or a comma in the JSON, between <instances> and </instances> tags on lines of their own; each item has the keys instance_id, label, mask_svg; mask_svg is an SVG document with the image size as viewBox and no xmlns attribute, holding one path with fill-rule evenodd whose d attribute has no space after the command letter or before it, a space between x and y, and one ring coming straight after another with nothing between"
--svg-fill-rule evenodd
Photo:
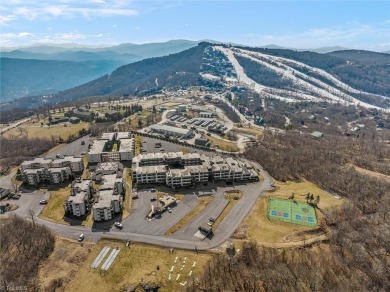
<instances>
[{"instance_id":1,"label":"green tennis court with blue painted sections","mask_svg":"<svg viewBox=\"0 0 390 292\"><path fill-rule=\"evenodd\" d=\"M312 206L305 202L296 202L281 198L268 199L268 218L306 226L316 226L316 212Z\"/></svg>"}]
</instances>

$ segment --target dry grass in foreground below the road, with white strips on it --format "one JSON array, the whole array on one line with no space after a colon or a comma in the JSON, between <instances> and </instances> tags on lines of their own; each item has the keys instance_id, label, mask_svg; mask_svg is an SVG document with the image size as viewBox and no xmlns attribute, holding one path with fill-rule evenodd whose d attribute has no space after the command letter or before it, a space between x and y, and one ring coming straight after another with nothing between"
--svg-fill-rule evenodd
<instances>
[{"instance_id":1,"label":"dry grass in foreground below the road, with white strips on it","mask_svg":"<svg viewBox=\"0 0 390 292\"><path fill-rule=\"evenodd\" d=\"M121 250L108 271L102 271L101 265L98 269L90 268L104 246L119 247ZM180 270L184 259L186 259L184 268ZM124 288L135 287L139 283L148 283L151 286L157 284L161 287L159 291L179 291L185 288L180 283L189 282L192 277L197 277L209 259L208 254L196 254L192 251L174 250L171 254L168 248L138 243L131 243L130 248L126 248L124 242L102 240L94 246L65 291L79 291L80 287L83 291L95 291L97 287L99 291L123 291ZM195 261L196 264L192 267ZM170 272L172 266L173 270ZM171 280L168 279L169 274ZM180 278L176 281L178 274Z\"/></svg>"}]
</instances>

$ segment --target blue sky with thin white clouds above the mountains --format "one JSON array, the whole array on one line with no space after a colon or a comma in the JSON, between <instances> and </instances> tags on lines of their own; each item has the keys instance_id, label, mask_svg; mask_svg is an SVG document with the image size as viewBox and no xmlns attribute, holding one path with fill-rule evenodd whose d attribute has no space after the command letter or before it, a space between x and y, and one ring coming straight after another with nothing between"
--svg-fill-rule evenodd
<instances>
[{"instance_id":1,"label":"blue sky with thin white clouds above the mountains","mask_svg":"<svg viewBox=\"0 0 390 292\"><path fill-rule=\"evenodd\" d=\"M3 47L213 39L390 50L390 1L5 0Z\"/></svg>"}]
</instances>

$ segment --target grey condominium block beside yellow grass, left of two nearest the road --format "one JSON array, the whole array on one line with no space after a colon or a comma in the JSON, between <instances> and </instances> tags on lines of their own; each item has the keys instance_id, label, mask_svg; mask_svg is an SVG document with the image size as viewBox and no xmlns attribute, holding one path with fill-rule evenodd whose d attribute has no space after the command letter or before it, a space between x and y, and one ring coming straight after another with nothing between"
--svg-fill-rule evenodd
<instances>
[{"instance_id":1,"label":"grey condominium block beside yellow grass, left of two nearest the road","mask_svg":"<svg viewBox=\"0 0 390 292\"><path fill-rule=\"evenodd\" d=\"M70 190L70 196L64 203L65 213L82 217L87 214L92 196L92 181L74 181Z\"/></svg>"}]
</instances>

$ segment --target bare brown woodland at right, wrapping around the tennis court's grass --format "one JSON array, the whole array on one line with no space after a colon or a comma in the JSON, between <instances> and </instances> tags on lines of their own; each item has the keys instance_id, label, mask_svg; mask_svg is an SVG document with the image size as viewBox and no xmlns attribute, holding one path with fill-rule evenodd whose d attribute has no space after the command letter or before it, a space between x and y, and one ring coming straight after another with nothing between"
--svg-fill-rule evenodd
<instances>
[{"instance_id":1,"label":"bare brown woodland at right, wrapping around the tennis court's grass","mask_svg":"<svg viewBox=\"0 0 390 292\"><path fill-rule=\"evenodd\" d=\"M260 143L245 156L273 177L308 179L347 202L319 209L326 242L283 250L244 243L237 255L215 256L187 291L389 291L390 182L348 166L390 174L389 148L376 139L297 132L266 133Z\"/></svg>"}]
</instances>

